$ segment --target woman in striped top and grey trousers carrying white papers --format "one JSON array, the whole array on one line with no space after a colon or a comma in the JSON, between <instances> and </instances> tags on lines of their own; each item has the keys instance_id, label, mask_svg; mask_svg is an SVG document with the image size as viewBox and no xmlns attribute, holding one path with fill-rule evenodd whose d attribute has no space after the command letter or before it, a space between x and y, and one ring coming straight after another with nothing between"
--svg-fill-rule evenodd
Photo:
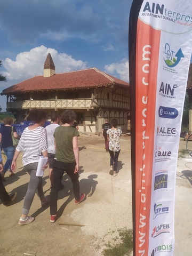
<instances>
[{"instance_id":1,"label":"woman in striped top and grey trousers carrying white papers","mask_svg":"<svg viewBox=\"0 0 192 256\"><path fill-rule=\"evenodd\" d=\"M50 195L44 196L42 177L36 176L39 157L42 155L47 157L46 130L44 127L42 127L45 124L46 113L41 109L32 109L29 111L28 118L30 121L34 122L34 125L28 126L23 131L11 164L11 169L15 171L17 167L17 158L20 152L22 152L22 163L24 166L24 171L27 171L30 175L21 218L18 222L19 225L27 225L35 220L34 217L28 216L28 213L36 190L41 200L42 207L44 207L50 199ZM47 166L48 161L47 164L43 166L42 170L45 170Z\"/></svg>"}]
</instances>

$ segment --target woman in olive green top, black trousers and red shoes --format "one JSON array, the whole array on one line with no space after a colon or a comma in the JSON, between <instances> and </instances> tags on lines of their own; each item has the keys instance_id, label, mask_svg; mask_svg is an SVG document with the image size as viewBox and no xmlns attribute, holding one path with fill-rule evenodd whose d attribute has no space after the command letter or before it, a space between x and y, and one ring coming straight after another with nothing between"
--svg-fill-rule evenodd
<instances>
[{"instance_id":1,"label":"woman in olive green top, black trousers and red shoes","mask_svg":"<svg viewBox=\"0 0 192 256\"><path fill-rule=\"evenodd\" d=\"M75 204L79 204L85 197L85 194L79 193L79 150L77 137L79 135L74 124L76 114L73 110L66 110L61 115L62 125L54 131L55 140L55 159L53 162L53 187L51 190L50 214L51 222L59 218L57 214L58 191L64 172L66 172L72 183L75 195Z\"/></svg>"}]
</instances>

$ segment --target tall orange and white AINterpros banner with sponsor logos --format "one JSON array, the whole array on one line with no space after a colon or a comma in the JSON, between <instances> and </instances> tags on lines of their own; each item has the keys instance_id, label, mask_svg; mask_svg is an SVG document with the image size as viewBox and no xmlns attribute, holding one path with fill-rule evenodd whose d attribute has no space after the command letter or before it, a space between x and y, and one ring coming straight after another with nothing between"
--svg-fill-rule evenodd
<instances>
[{"instance_id":1,"label":"tall orange and white AINterpros banner with sponsor logos","mask_svg":"<svg viewBox=\"0 0 192 256\"><path fill-rule=\"evenodd\" d=\"M133 0L129 67L137 256L173 255L177 157L191 46L191 0Z\"/></svg>"}]
</instances>

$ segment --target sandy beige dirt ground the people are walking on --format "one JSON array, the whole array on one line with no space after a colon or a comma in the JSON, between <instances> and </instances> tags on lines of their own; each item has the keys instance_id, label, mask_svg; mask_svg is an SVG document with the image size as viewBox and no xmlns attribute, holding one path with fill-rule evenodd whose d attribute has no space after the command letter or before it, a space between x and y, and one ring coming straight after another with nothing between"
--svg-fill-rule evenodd
<instances>
[{"instance_id":1,"label":"sandy beige dirt ground the people are walking on","mask_svg":"<svg viewBox=\"0 0 192 256\"><path fill-rule=\"evenodd\" d=\"M62 183L65 189L59 191L58 200L61 218L51 223L49 206L42 209L35 196L29 214L36 220L26 226L18 225L29 180L28 174L22 170L20 156L16 174L11 178L7 177L8 173L5 176L6 190L9 193L17 191L18 197L10 207L0 205L0 256L27 255L23 253L36 256L101 256L104 241L111 239L113 230L132 228L130 137L121 138L121 148L118 175L111 177L104 140L94 135L79 137L79 180L86 200L79 205L74 204L71 182L64 175ZM192 171L186 167L186 162L186 158L178 162L174 256L190 256L192 251ZM43 180L45 194L49 194L47 170Z\"/></svg>"}]
</instances>

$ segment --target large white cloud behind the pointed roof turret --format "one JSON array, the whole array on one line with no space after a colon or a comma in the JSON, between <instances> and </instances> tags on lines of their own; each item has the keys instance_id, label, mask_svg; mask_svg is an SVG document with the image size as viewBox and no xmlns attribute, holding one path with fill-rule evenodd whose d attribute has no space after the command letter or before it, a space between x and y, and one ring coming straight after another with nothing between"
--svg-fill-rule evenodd
<instances>
[{"instance_id":1,"label":"large white cloud behind the pointed roof turret","mask_svg":"<svg viewBox=\"0 0 192 256\"><path fill-rule=\"evenodd\" d=\"M31 49L29 52L21 52L17 55L15 61L9 58L3 60L3 66L7 71L3 71L7 81L23 81L33 76L43 75L43 65L48 53L51 53L55 65L56 73L85 69L86 62L75 60L66 53L58 53L55 49L39 46Z\"/></svg>"}]
</instances>

